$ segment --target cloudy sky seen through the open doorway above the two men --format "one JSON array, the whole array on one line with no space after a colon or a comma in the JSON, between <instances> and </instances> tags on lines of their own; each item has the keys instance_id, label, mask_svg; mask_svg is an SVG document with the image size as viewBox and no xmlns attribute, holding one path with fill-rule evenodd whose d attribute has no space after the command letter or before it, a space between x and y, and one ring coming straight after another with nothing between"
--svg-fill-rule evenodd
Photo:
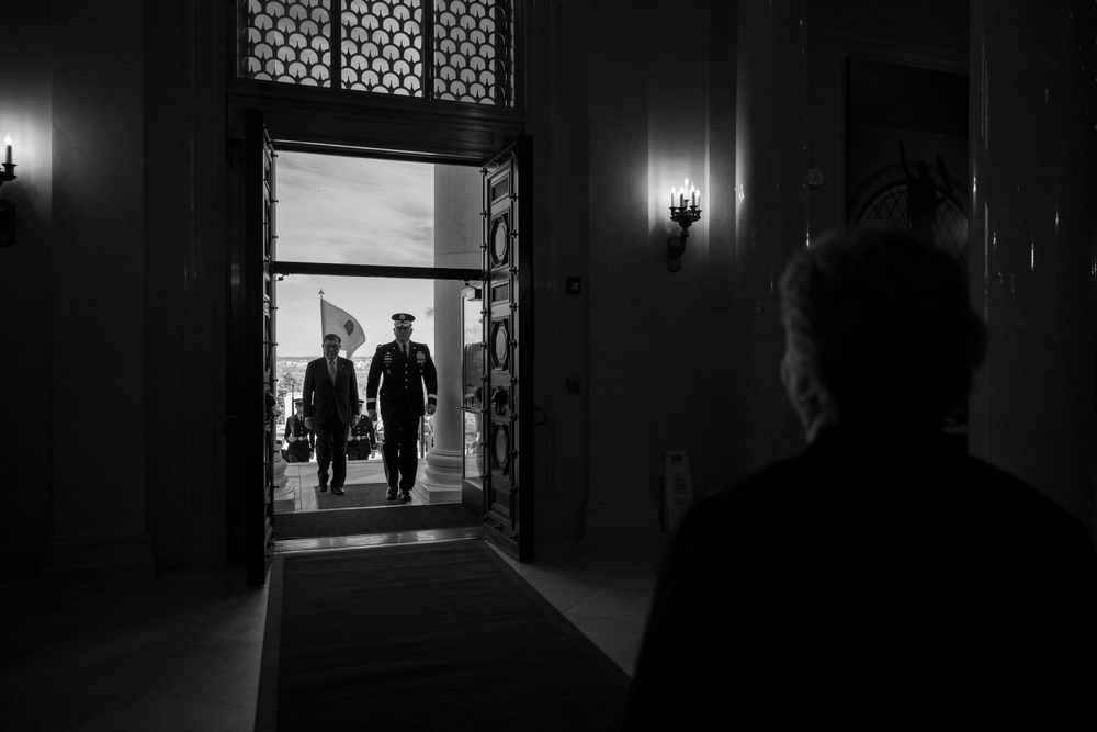
<instances>
[{"instance_id":1,"label":"cloudy sky seen through the open doorway above the two men","mask_svg":"<svg viewBox=\"0 0 1097 732\"><path fill-rule=\"evenodd\" d=\"M276 259L433 266L431 165L279 153L275 198ZM411 339L433 350L433 318L426 315L433 286L433 280L286 275L276 289L279 356L320 354L320 290L362 324L366 340L354 356L393 339L397 312L416 316Z\"/></svg>"}]
</instances>

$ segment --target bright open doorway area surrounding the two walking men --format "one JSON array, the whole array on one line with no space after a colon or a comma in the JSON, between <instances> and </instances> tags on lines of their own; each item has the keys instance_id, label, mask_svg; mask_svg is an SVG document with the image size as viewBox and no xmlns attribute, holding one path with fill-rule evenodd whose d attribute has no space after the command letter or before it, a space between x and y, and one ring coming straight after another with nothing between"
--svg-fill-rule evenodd
<instances>
[{"instance_id":1,"label":"bright open doorway area surrounding the two walking men","mask_svg":"<svg viewBox=\"0 0 1097 732\"><path fill-rule=\"evenodd\" d=\"M479 169L280 149L275 179L275 540L478 525L476 513L461 507L461 466L448 468L448 452L465 449L461 292L480 273ZM292 416L305 368L336 318L350 335L340 356L354 362L364 402L376 348L394 339L395 313L415 317L411 340L429 350L439 373L439 410L418 430L412 500L385 498L383 418L372 433L349 436L346 493L320 492L312 436L301 444ZM377 513L407 508L431 510Z\"/></svg>"}]
</instances>

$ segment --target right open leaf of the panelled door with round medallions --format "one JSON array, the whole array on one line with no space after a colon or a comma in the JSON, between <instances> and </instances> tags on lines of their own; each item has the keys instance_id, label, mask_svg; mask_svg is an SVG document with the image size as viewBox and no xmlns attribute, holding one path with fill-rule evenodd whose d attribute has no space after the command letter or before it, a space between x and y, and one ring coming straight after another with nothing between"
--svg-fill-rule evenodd
<instances>
[{"instance_id":1,"label":"right open leaf of the panelled door with round medallions","mask_svg":"<svg viewBox=\"0 0 1097 732\"><path fill-rule=\"evenodd\" d=\"M529 149L519 138L484 168L484 532L520 562L533 559Z\"/></svg>"}]
</instances>

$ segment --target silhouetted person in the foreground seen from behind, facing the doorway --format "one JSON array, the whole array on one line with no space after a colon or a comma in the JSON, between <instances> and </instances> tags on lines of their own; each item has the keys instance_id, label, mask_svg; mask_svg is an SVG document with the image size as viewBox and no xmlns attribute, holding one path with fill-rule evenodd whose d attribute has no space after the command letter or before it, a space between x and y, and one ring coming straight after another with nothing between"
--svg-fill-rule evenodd
<instances>
[{"instance_id":1,"label":"silhouetted person in the foreground seen from behind, facing the doorway","mask_svg":"<svg viewBox=\"0 0 1097 732\"><path fill-rule=\"evenodd\" d=\"M939 428L985 351L960 266L833 235L781 299L807 447L687 511L626 729L1092 728L1090 537Z\"/></svg>"}]
</instances>

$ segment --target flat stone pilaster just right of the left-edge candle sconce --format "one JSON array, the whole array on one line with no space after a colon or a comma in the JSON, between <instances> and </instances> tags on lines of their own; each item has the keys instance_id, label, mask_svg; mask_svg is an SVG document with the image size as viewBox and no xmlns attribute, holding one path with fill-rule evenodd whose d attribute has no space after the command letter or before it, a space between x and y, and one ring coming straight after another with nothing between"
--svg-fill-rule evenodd
<instances>
[{"instance_id":1,"label":"flat stone pilaster just right of the left-edge candle sconce","mask_svg":"<svg viewBox=\"0 0 1097 732\"><path fill-rule=\"evenodd\" d=\"M47 374L49 393L38 395L32 424L38 429L43 420L41 435L56 452L50 471L38 466L52 484L27 486L52 492L52 536L39 564L47 576L151 576L156 570L146 491L156 489L158 476L147 472L146 410L159 407L146 399L146 386L156 380L158 393L176 394L178 382L147 365L157 346L146 339L144 278L169 255L148 247L144 236L144 71L134 49L145 35L139 13L128 8L106 3L89 10L80 29L70 13L53 14L50 33L57 48L65 48L53 58L48 80L53 136L34 132L24 138L46 150L52 145L52 157L39 158L38 169L27 157L18 160L25 166L18 171L21 179L53 166L52 189L39 192L52 206L52 289L35 305L35 319L37 338L55 350L35 367ZM111 29L117 43L98 43L94 32L83 32L88 27ZM20 150L26 149L34 148L24 142L16 153L25 156ZM11 190L25 190L25 179L16 182ZM35 213L24 207L20 215L30 214L33 222ZM95 388L110 401L92 420L103 460L91 463L84 459L91 455L73 460L70 452L86 442L91 424L81 415L87 384L73 375L73 354L78 371L94 374ZM156 365L162 370L162 359ZM9 386L19 390L22 382ZM95 463L104 464L89 470Z\"/></svg>"}]
</instances>

